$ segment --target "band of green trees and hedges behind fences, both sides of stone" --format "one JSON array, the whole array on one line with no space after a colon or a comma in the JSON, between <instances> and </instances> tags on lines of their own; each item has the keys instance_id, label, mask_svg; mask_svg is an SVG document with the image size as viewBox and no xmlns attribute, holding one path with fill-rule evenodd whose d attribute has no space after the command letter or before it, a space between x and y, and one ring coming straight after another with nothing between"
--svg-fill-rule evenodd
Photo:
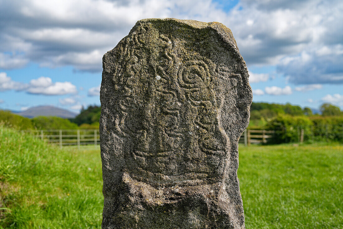
<instances>
[{"instance_id":1,"label":"band of green trees and hedges behind fences, both sides of stone","mask_svg":"<svg viewBox=\"0 0 343 229\"><path fill-rule=\"evenodd\" d=\"M253 102L250 108L250 129L272 129L275 123L287 123L288 126L319 124L340 125L343 112L339 107L324 103L320 106L320 113L314 114L308 107L266 102ZM80 114L72 119L59 117L25 118L9 111L0 110L0 122L5 126L17 129L98 129L101 107L90 105L82 108ZM282 121L283 120L283 121ZM306 120L299 122L299 120ZM318 125L319 125L318 124ZM342 123L343 124L343 123ZM286 125L286 124L284 124Z\"/></svg>"}]
</instances>

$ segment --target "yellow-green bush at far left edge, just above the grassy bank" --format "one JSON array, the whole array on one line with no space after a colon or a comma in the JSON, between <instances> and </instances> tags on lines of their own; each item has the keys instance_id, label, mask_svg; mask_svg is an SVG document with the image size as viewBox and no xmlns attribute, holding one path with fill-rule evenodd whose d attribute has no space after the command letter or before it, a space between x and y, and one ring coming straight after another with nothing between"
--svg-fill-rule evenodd
<instances>
[{"instance_id":1,"label":"yellow-green bush at far left edge, just above the grassy bank","mask_svg":"<svg viewBox=\"0 0 343 229\"><path fill-rule=\"evenodd\" d=\"M11 113L10 111L0 110L0 123L5 127L15 128L19 130L33 129L31 119Z\"/></svg>"}]
</instances>

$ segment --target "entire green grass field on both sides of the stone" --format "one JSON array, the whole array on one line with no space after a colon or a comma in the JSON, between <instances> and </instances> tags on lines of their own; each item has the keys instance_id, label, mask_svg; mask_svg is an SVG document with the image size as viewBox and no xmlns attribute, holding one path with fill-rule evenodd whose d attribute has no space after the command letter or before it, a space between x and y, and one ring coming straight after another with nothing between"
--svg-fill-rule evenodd
<instances>
[{"instance_id":1,"label":"entire green grass field on both sides of the stone","mask_svg":"<svg viewBox=\"0 0 343 229\"><path fill-rule=\"evenodd\" d=\"M247 228L343 228L343 145L240 146ZM0 228L100 228L99 149L0 127Z\"/></svg>"}]
</instances>

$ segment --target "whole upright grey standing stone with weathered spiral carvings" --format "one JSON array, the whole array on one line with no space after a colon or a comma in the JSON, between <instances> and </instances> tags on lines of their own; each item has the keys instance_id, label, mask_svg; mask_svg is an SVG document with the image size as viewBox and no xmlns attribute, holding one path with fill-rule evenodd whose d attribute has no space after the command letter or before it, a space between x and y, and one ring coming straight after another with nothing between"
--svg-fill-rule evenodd
<instances>
[{"instance_id":1,"label":"whole upright grey standing stone with weathered spiral carvings","mask_svg":"<svg viewBox=\"0 0 343 229\"><path fill-rule=\"evenodd\" d=\"M238 140L252 92L218 22L144 19L103 57L103 228L245 228Z\"/></svg>"}]
</instances>

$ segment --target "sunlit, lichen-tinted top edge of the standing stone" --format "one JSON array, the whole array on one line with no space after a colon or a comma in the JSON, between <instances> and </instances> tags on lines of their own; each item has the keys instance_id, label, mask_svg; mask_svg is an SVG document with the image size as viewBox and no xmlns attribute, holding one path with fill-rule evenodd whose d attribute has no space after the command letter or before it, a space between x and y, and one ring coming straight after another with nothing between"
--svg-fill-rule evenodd
<instances>
[{"instance_id":1,"label":"sunlit, lichen-tinted top edge of the standing stone","mask_svg":"<svg viewBox=\"0 0 343 229\"><path fill-rule=\"evenodd\" d=\"M183 19L177 19L177 18L146 18L146 19L137 21L137 24L142 23L142 22L158 22L158 21L175 21L178 23L187 24L196 29L212 28L215 31L217 31L217 33L220 34L224 38L224 40L226 40L226 42L233 45L239 52L236 40L231 30L227 28L223 23L216 22L216 21L202 22L202 21L188 20L188 19L183 20ZM226 37L228 39L226 39Z\"/></svg>"}]
</instances>

